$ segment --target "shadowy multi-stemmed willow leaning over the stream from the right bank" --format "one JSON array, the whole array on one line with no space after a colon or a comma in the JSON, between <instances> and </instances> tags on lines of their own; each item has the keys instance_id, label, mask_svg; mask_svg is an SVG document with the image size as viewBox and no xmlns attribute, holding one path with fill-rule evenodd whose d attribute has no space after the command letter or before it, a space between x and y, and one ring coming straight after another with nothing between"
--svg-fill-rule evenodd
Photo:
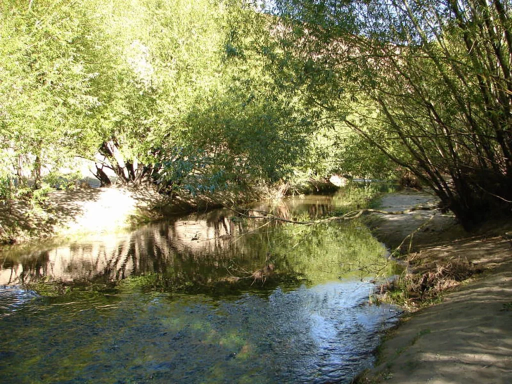
<instances>
[{"instance_id":1,"label":"shadowy multi-stemmed willow leaning over the stream from the right bank","mask_svg":"<svg viewBox=\"0 0 512 384\"><path fill-rule=\"evenodd\" d=\"M283 0L273 12L289 85L410 169L470 228L511 213L511 7Z\"/></svg>"}]
</instances>

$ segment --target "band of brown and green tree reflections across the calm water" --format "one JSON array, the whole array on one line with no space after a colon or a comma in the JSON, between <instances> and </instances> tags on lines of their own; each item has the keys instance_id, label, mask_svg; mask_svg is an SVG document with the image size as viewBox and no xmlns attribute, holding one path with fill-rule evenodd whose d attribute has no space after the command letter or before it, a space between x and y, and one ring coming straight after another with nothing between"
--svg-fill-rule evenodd
<instances>
[{"instance_id":1,"label":"band of brown and green tree reflections across the calm water","mask_svg":"<svg viewBox=\"0 0 512 384\"><path fill-rule=\"evenodd\" d=\"M282 218L316 217L329 206L320 201L297 207L279 204L271 209ZM20 259L4 257L0 284L45 279L65 284L116 283L130 278L139 279L144 287L173 291L235 283L269 286L301 276L315 281L332 278L340 273L340 265L357 264L359 268L366 254L381 253L380 245L375 246L371 235L356 224L353 228L334 223L315 227L267 224L245 220L229 210L153 223L116 238L37 251ZM270 264L272 279L265 274L257 282L254 273L268 270Z\"/></svg>"}]
</instances>

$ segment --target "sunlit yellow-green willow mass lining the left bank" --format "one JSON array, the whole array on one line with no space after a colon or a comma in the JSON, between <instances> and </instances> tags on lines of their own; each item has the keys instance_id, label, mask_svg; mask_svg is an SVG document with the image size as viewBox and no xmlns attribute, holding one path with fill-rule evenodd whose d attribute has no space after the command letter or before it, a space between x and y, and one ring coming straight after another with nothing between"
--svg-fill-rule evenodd
<instances>
[{"instance_id":1,"label":"sunlit yellow-green willow mass lining the left bank","mask_svg":"<svg viewBox=\"0 0 512 384\"><path fill-rule=\"evenodd\" d=\"M74 156L103 185L107 167L197 192L276 181L304 155L311 121L244 53L271 39L242 2L8 1L1 17L4 161L34 188Z\"/></svg>"}]
</instances>

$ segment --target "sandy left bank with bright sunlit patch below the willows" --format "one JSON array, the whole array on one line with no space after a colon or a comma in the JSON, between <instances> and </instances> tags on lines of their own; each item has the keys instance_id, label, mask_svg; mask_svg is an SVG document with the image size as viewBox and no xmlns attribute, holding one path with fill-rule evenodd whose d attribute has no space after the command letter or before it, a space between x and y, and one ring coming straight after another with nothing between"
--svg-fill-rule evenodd
<instances>
[{"instance_id":1,"label":"sandy left bank with bright sunlit patch below the willows","mask_svg":"<svg viewBox=\"0 0 512 384\"><path fill-rule=\"evenodd\" d=\"M50 237L113 232L158 217L165 197L151 188L82 187L56 190L38 204L18 200L0 205L0 237L23 243Z\"/></svg>"}]
</instances>

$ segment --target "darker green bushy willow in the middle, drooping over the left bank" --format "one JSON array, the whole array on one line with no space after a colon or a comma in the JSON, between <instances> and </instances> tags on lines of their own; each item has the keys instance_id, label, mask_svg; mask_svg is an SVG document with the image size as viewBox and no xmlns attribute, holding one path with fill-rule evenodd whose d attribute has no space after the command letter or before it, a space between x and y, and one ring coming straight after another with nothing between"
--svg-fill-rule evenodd
<instances>
[{"instance_id":1,"label":"darker green bushy willow in the middle, drooping over the left bank","mask_svg":"<svg viewBox=\"0 0 512 384\"><path fill-rule=\"evenodd\" d=\"M215 75L173 121L179 129L167 131L160 174L168 186L247 192L293 173L313 123L265 70L263 47L274 44L268 17L243 2L230 3L218 17L223 34Z\"/></svg>"}]
</instances>

